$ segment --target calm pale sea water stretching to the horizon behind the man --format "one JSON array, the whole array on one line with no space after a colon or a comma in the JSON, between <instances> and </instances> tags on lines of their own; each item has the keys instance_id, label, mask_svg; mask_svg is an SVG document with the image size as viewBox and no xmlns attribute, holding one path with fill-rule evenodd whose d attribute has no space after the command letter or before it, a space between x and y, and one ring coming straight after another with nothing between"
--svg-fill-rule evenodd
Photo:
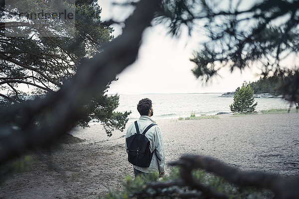
<instances>
[{"instance_id":1,"label":"calm pale sea water stretching to the horizon behind the man","mask_svg":"<svg viewBox=\"0 0 299 199\"><path fill-rule=\"evenodd\" d=\"M233 98L221 98L221 94L151 94L151 95L120 95L117 111L132 110L129 120L139 118L137 103L143 98L153 102L153 119L170 119L195 115L213 115L218 112L231 112L229 105ZM257 98L257 111L271 108L288 108L290 104L280 98Z\"/></svg>"}]
</instances>

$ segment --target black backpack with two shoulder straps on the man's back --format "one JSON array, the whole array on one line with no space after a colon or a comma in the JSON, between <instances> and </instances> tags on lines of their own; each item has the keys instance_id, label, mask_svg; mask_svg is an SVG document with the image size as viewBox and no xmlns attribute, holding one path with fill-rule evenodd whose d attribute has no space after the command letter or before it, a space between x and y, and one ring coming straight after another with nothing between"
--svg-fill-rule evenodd
<instances>
[{"instance_id":1,"label":"black backpack with two shoulder straps on the man's back","mask_svg":"<svg viewBox=\"0 0 299 199\"><path fill-rule=\"evenodd\" d=\"M149 139L146 137L146 132L150 127L156 124L150 124L143 133L139 133L137 121L135 121L136 132L134 135L126 138L128 161L139 167L149 167L153 152L150 153Z\"/></svg>"}]
</instances>

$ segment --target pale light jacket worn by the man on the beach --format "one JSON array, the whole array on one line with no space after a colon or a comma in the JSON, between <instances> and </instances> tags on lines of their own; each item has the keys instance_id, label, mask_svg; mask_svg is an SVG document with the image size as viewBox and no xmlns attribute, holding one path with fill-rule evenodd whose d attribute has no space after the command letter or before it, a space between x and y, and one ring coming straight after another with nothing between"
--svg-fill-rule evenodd
<instances>
[{"instance_id":1,"label":"pale light jacket worn by the man on the beach","mask_svg":"<svg viewBox=\"0 0 299 199\"><path fill-rule=\"evenodd\" d=\"M149 126L151 123L156 123L153 121L149 116L142 115L137 120L138 127L140 132L143 133L144 130ZM128 127L126 138L134 135L136 133L136 128L134 122ZM158 125L152 126L148 132L146 133L146 137L149 139L150 145L149 149L150 152L153 153L150 165L148 168L138 167L133 165L133 167L139 171L144 173L155 173L155 172L164 172L165 169L165 154L164 154L164 144L161 135L161 130ZM128 153L127 142L125 141L126 151Z\"/></svg>"}]
</instances>

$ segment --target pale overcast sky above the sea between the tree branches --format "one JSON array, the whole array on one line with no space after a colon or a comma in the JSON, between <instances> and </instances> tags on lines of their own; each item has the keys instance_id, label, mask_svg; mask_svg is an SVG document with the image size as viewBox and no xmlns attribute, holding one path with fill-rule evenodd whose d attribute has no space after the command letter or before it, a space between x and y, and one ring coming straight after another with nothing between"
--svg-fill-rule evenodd
<instances>
[{"instance_id":1,"label":"pale overcast sky above the sea between the tree branches","mask_svg":"<svg viewBox=\"0 0 299 199\"><path fill-rule=\"evenodd\" d=\"M114 1L115 2L115 1ZM113 17L123 20L133 9L112 6L111 0L98 0L102 6L102 20ZM115 27L115 35L121 33ZM195 65L189 61L197 43L204 39L200 33L191 38L186 32L180 39L167 35L162 25L148 28L144 32L138 60L127 67L117 77L119 80L111 84L109 94L148 94L148 93L225 93L235 91L244 81L256 81L260 78L257 69L239 70L230 73L228 69L220 71L222 78L214 78L212 84L206 85L197 80L191 69Z\"/></svg>"}]
</instances>

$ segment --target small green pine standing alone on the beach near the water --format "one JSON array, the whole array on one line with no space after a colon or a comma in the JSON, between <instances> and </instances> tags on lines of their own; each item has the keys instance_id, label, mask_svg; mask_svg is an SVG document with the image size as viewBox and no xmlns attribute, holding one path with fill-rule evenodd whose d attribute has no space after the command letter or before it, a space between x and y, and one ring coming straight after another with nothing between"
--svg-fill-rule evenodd
<instances>
[{"instance_id":1,"label":"small green pine standing alone on the beach near the water","mask_svg":"<svg viewBox=\"0 0 299 199\"><path fill-rule=\"evenodd\" d=\"M243 83L241 89L237 89L234 102L229 106L233 112L253 112L258 102L254 103L253 90L250 85Z\"/></svg>"}]
</instances>

